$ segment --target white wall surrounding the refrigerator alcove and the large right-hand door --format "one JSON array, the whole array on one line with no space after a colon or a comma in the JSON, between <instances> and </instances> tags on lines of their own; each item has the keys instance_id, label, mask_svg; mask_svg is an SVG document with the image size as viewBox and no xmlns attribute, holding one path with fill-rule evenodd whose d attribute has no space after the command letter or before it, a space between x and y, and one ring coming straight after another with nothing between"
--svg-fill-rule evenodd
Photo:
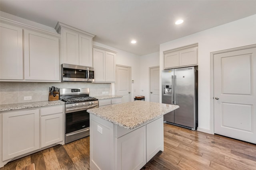
<instances>
[{"instance_id":1,"label":"white wall surrounding the refrigerator alcove and the large right-hand door","mask_svg":"<svg viewBox=\"0 0 256 170\"><path fill-rule=\"evenodd\" d=\"M163 51L193 43L198 43L198 130L210 133L210 53L256 44L256 15L160 44L160 70Z\"/></svg>"}]
</instances>

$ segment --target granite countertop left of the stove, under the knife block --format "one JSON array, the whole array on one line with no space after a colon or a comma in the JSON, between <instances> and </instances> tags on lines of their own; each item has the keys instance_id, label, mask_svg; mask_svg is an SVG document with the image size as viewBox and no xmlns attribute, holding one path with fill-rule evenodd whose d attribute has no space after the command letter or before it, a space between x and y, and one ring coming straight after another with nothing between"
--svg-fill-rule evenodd
<instances>
[{"instance_id":1,"label":"granite countertop left of the stove, under the knife block","mask_svg":"<svg viewBox=\"0 0 256 170\"><path fill-rule=\"evenodd\" d=\"M27 103L17 103L17 104L1 104L0 111L9 111L9 110L18 110L18 109L28 109L34 107L43 107L43 106L53 106L65 104L61 100L55 101L41 101L41 102L27 102Z\"/></svg>"}]
</instances>

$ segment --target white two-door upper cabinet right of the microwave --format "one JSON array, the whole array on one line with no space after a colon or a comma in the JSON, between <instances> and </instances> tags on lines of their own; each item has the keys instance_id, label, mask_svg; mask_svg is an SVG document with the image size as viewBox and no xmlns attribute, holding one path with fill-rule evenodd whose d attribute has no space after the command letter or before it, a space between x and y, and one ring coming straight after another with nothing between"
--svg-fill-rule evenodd
<instances>
[{"instance_id":1,"label":"white two-door upper cabinet right of the microwave","mask_svg":"<svg viewBox=\"0 0 256 170\"><path fill-rule=\"evenodd\" d=\"M116 51L93 47L94 82L116 81Z\"/></svg>"}]
</instances>

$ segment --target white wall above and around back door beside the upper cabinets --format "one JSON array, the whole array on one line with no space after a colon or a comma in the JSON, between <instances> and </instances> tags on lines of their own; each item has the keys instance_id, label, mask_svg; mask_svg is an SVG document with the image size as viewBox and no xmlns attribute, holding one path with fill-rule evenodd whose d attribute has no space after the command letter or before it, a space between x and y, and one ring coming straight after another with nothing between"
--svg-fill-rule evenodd
<instances>
[{"instance_id":1,"label":"white wall above and around back door beside the upper cabinets","mask_svg":"<svg viewBox=\"0 0 256 170\"><path fill-rule=\"evenodd\" d=\"M140 59L139 59L139 56L132 54L132 53L128 53L128 52L120 50L120 49L116 49L114 47L110 47L108 45L94 42L94 41L93 41L93 45L96 45L98 47L103 47L106 49L110 49L113 51L117 51L116 64L132 67L132 80L134 80L134 83L132 83L131 96L132 96L132 99L135 96L138 96L137 92L140 91ZM114 83L112 83L112 87L113 87L112 93L114 94L115 93Z\"/></svg>"}]
</instances>

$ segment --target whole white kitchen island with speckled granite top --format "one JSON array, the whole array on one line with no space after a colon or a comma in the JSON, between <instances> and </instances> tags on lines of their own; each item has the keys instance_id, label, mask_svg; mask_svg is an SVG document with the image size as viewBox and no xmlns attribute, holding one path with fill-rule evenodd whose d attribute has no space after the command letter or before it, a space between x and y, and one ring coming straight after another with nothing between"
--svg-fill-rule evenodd
<instances>
[{"instance_id":1,"label":"whole white kitchen island with speckled granite top","mask_svg":"<svg viewBox=\"0 0 256 170\"><path fill-rule=\"evenodd\" d=\"M139 170L164 150L163 115L177 105L146 101L88 109L90 169Z\"/></svg>"}]
</instances>

